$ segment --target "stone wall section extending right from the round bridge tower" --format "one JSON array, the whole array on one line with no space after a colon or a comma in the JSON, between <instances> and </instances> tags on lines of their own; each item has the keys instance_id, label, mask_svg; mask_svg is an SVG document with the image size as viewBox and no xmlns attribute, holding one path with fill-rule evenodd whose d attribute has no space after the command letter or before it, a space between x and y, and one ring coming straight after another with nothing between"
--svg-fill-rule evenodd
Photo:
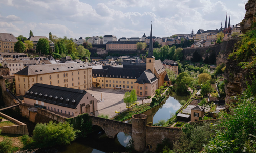
<instances>
[{"instance_id":1,"label":"stone wall section extending right from the round bridge tower","mask_svg":"<svg viewBox=\"0 0 256 153\"><path fill-rule=\"evenodd\" d=\"M146 148L155 152L157 144L162 143L164 138L169 139L171 142L176 140L181 128L170 127L146 127Z\"/></svg>"}]
</instances>

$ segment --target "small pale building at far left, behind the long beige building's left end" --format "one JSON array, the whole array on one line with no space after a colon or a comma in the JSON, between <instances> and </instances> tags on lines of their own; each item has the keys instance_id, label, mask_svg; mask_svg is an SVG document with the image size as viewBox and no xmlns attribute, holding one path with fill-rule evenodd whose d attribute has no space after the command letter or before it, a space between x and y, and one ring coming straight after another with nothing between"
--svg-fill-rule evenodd
<instances>
[{"instance_id":1,"label":"small pale building at far left, behind the long beige building's left end","mask_svg":"<svg viewBox=\"0 0 256 153\"><path fill-rule=\"evenodd\" d=\"M3 62L4 68L9 68L9 75L13 76L15 73L23 69L22 60L5 60Z\"/></svg>"}]
</instances>

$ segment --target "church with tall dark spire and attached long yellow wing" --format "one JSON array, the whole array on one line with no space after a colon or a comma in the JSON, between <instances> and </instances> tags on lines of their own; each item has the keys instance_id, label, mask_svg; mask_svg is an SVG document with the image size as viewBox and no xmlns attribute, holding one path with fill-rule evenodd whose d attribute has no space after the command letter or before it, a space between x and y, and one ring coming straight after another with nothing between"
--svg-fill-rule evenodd
<instances>
[{"instance_id":1,"label":"church with tall dark spire and attached long yellow wing","mask_svg":"<svg viewBox=\"0 0 256 153\"><path fill-rule=\"evenodd\" d=\"M139 97L153 96L155 90L170 79L161 60L153 56L152 25L146 63L131 63L118 66L92 66L93 87L136 90Z\"/></svg>"}]
</instances>

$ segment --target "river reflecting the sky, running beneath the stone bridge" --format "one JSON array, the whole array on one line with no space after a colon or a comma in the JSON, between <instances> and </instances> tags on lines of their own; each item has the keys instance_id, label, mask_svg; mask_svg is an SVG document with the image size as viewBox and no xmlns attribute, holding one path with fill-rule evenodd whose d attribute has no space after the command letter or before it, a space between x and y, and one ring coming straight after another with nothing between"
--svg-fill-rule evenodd
<instances>
[{"instance_id":1,"label":"river reflecting the sky, running beneath the stone bridge","mask_svg":"<svg viewBox=\"0 0 256 153\"><path fill-rule=\"evenodd\" d=\"M157 123L159 120L164 119L167 121L171 114L181 107L180 101L189 99L189 95L177 95L176 93L170 93L170 96L160 105L155 108L144 112L147 115L147 122ZM130 122L127 120L126 122ZM56 148L61 153L96 153L96 152L125 152L125 146L127 145L130 135L125 133L118 133L115 139L106 137L103 131L90 134L87 138L77 139L70 145Z\"/></svg>"}]
</instances>

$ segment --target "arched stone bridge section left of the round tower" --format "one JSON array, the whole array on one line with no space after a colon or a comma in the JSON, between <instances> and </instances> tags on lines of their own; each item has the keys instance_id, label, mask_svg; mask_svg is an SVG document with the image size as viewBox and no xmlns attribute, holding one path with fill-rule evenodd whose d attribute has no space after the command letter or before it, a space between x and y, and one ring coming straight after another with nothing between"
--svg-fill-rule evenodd
<instances>
[{"instance_id":1,"label":"arched stone bridge section left of the round tower","mask_svg":"<svg viewBox=\"0 0 256 153\"><path fill-rule=\"evenodd\" d=\"M115 138L115 136L119 132L124 132L132 136L132 124L95 117L95 116L89 116L89 117L92 121L92 126L97 125L101 127L105 131L106 136L108 136L109 138Z\"/></svg>"}]
</instances>

